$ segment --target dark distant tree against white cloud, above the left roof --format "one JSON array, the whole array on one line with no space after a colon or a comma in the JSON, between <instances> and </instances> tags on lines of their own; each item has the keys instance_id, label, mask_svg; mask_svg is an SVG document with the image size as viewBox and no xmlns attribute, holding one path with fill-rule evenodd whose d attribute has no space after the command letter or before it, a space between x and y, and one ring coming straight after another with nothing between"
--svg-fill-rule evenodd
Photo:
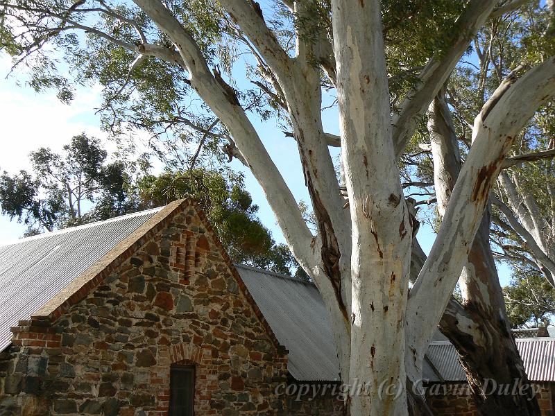
<instances>
[{"instance_id":1,"label":"dark distant tree against white cloud, above the left roof","mask_svg":"<svg viewBox=\"0 0 555 416\"><path fill-rule=\"evenodd\" d=\"M1 212L27 225L26 235L89 223L132 209L123 162L108 162L101 141L85 133L61 154L40 148L29 155L33 173L0 176Z\"/></svg>"}]
</instances>

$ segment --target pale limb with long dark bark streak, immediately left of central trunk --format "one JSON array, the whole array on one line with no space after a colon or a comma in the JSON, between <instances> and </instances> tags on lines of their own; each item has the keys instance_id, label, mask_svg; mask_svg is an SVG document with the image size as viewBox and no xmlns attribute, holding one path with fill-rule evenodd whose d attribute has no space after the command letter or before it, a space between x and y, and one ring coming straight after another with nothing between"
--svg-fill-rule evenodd
<instances>
[{"instance_id":1,"label":"pale limb with long dark bark streak, immediately left of central trunk","mask_svg":"<svg viewBox=\"0 0 555 416\"><path fill-rule=\"evenodd\" d=\"M328 137L321 119L321 79L309 63L311 45L298 37L296 58L289 58L268 29L262 11L244 0L221 0L222 5L275 74L284 94L297 141L305 184L318 225L318 266L308 270L323 296L332 319L341 376L349 378L350 345L350 224L343 210ZM295 4L295 12L304 10ZM279 215L279 214L278 214ZM323 270L322 270L323 268Z\"/></svg>"}]
</instances>

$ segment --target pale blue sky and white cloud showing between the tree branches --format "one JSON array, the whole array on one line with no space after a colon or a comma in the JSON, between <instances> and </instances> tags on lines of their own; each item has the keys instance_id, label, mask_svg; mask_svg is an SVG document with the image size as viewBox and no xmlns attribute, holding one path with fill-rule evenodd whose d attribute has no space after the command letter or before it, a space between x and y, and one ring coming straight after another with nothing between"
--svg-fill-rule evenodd
<instances>
[{"instance_id":1,"label":"pale blue sky and white cloud showing between the tree branches","mask_svg":"<svg viewBox=\"0 0 555 416\"><path fill-rule=\"evenodd\" d=\"M80 132L101 138L107 137L99 128L99 116L94 114L100 103L100 87L78 89L74 102L65 105L58 101L53 92L35 94L33 89L24 85L25 77L21 73L5 78L9 69L10 58L0 55L1 171L15 173L19 169L28 169L28 153L41 146L60 150L63 144ZM308 201L309 195L302 180L296 142L285 137L273 121L262 122L257 116L252 115L250 119L260 132L268 153L289 184L295 198L298 201ZM339 134L338 118L334 110L327 110L323 119L327 132ZM108 150L115 148L110 142L106 143ZM337 155L336 150L332 150L332 155ZM244 173L246 187L254 202L259 205L259 218L272 230L276 241L284 242L273 212L253 175L239 162L232 162L232 167ZM10 221L9 218L0 216L0 243L19 238L24 229L25 227L15 220ZM426 252L432 247L434 238L435 234L430 227L420 227L418 239ZM500 265L499 275L502 284L507 284L510 277L509 269Z\"/></svg>"}]
</instances>

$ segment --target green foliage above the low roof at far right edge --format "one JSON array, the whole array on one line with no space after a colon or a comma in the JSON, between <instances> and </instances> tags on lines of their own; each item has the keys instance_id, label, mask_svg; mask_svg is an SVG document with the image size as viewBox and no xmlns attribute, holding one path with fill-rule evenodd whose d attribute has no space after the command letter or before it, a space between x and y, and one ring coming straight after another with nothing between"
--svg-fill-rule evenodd
<instances>
[{"instance_id":1,"label":"green foliage above the low roof at far right edge","mask_svg":"<svg viewBox=\"0 0 555 416\"><path fill-rule=\"evenodd\" d=\"M503 292L511 327L547 327L554 322L555 288L536 270L515 270Z\"/></svg>"}]
</instances>

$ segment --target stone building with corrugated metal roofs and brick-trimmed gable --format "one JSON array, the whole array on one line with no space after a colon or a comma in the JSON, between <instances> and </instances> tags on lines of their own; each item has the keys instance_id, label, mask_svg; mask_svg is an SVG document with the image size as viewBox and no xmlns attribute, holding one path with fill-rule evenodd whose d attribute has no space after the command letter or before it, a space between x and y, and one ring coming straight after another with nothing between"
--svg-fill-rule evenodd
<instances>
[{"instance_id":1,"label":"stone building with corrugated metal roofs and brick-trimmed gable","mask_svg":"<svg viewBox=\"0 0 555 416\"><path fill-rule=\"evenodd\" d=\"M0 416L343 413L314 284L232 264L191 200L0 247L0 296ZM425 379L461 383L436 344ZM436 413L471 415L450 392Z\"/></svg>"}]
</instances>

